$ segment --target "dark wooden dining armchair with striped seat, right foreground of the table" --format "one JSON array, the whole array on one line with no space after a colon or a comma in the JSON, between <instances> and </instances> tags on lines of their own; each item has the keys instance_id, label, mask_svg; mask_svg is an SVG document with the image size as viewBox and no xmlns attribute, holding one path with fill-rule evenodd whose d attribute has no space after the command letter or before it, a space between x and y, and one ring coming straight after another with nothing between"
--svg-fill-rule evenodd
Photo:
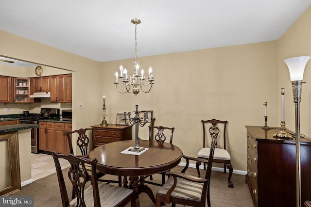
<instances>
[{"instance_id":1,"label":"dark wooden dining armchair with striped seat, right foreground of the table","mask_svg":"<svg viewBox=\"0 0 311 207\"><path fill-rule=\"evenodd\" d=\"M207 206L210 207L209 184L214 152L215 142L212 143L209 149L209 158L211 158L209 160L183 155L183 158L186 159L186 166L181 173L172 171L166 172L166 175L170 175L170 177L156 193L156 207L160 207L163 202L167 204L172 203L172 207L175 207L175 204L183 204L191 207L205 207L206 201ZM196 161L197 166L200 166L201 163L207 164L204 178L185 174L189 166L189 160Z\"/></svg>"}]
</instances>

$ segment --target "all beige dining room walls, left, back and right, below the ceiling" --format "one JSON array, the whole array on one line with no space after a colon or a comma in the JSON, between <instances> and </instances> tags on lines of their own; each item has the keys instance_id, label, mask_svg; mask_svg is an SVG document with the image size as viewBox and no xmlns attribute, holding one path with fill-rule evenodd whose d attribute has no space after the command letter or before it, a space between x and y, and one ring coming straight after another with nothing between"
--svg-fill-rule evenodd
<instances>
[{"instance_id":1,"label":"all beige dining room walls, left, back and right, below the ceiling","mask_svg":"<svg viewBox=\"0 0 311 207\"><path fill-rule=\"evenodd\" d=\"M245 171L244 126L264 125L264 101L268 102L268 125L279 126L281 87L286 90L287 127L294 129L291 83L282 60L311 55L310 16L309 8L278 41L138 57L143 68L153 67L155 77L153 91L138 97L118 93L113 84L120 64L132 73L133 59L97 63L3 31L0 55L73 71L73 128L101 122L105 95L109 123L115 123L119 112L134 111L135 104L140 110L154 110L155 124L175 127L174 144L184 154L196 156L202 146L200 121L227 120L233 168ZM307 81L310 67L309 63L304 76ZM308 83L303 86L301 132L307 136L310 91ZM83 103L82 109L78 109L79 102Z\"/></svg>"}]
</instances>

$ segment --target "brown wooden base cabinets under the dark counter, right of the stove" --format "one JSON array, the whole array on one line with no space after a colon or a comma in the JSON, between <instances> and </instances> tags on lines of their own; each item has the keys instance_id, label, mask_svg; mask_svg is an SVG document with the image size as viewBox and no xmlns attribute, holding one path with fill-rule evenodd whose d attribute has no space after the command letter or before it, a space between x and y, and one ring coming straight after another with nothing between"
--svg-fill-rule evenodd
<instances>
[{"instance_id":1,"label":"brown wooden base cabinets under the dark counter, right of the stove","mask_svg":"<svg viewBox=\"0 0 311 207\"><path fill-rule=\"evenodd\" d=\"M66 132L71 128L68 123L39 122L39 150L69 154Z\"/></svg>"}]
</instances>

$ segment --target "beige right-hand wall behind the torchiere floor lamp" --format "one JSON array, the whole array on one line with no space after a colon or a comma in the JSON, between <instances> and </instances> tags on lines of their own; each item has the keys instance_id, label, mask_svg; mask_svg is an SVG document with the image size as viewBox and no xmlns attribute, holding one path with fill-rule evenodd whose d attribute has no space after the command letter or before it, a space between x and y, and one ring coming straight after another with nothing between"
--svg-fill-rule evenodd
<instances>
[{"instance_id":1,"label":"beige right-hand wall behind the torchiere floor lamp","mask_svg":"<svg viewBox=\"0 0 311 207\"><path fill-rule=\"evenodd\" d=\"M285 88L285 122L286 127L295 131L295 106L292 84L287 65L283 60L296 56L311 56L311 7L300 16L287 32L277 41L278 45L278 91ZM300 133L311 137L311 61L306 65L300 103ZM281 99L278 98L281 105ZM281 112L281 111L279 111ZM279 113L280 117L280 113Z\"/></svg>"}]
</instances>

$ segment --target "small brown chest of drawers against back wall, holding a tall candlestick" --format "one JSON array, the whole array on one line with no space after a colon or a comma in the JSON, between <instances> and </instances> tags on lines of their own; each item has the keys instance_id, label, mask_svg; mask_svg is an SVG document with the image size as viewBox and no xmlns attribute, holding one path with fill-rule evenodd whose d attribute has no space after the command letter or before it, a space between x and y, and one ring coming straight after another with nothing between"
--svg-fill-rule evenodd
<instances>
[{"instance_id":1,"label":"small brown chest of drawers against back wall, holding a tall candlestick","mask_svg":"<svg viewBox=\"0 0 311 207\"><path fill-rule=\"evenodd\" d=\"M126 125L112 125L107 127L95 125L92 127L93 148L105 143L132 140L132 127Z\"/></svg>"}]
</instances>

